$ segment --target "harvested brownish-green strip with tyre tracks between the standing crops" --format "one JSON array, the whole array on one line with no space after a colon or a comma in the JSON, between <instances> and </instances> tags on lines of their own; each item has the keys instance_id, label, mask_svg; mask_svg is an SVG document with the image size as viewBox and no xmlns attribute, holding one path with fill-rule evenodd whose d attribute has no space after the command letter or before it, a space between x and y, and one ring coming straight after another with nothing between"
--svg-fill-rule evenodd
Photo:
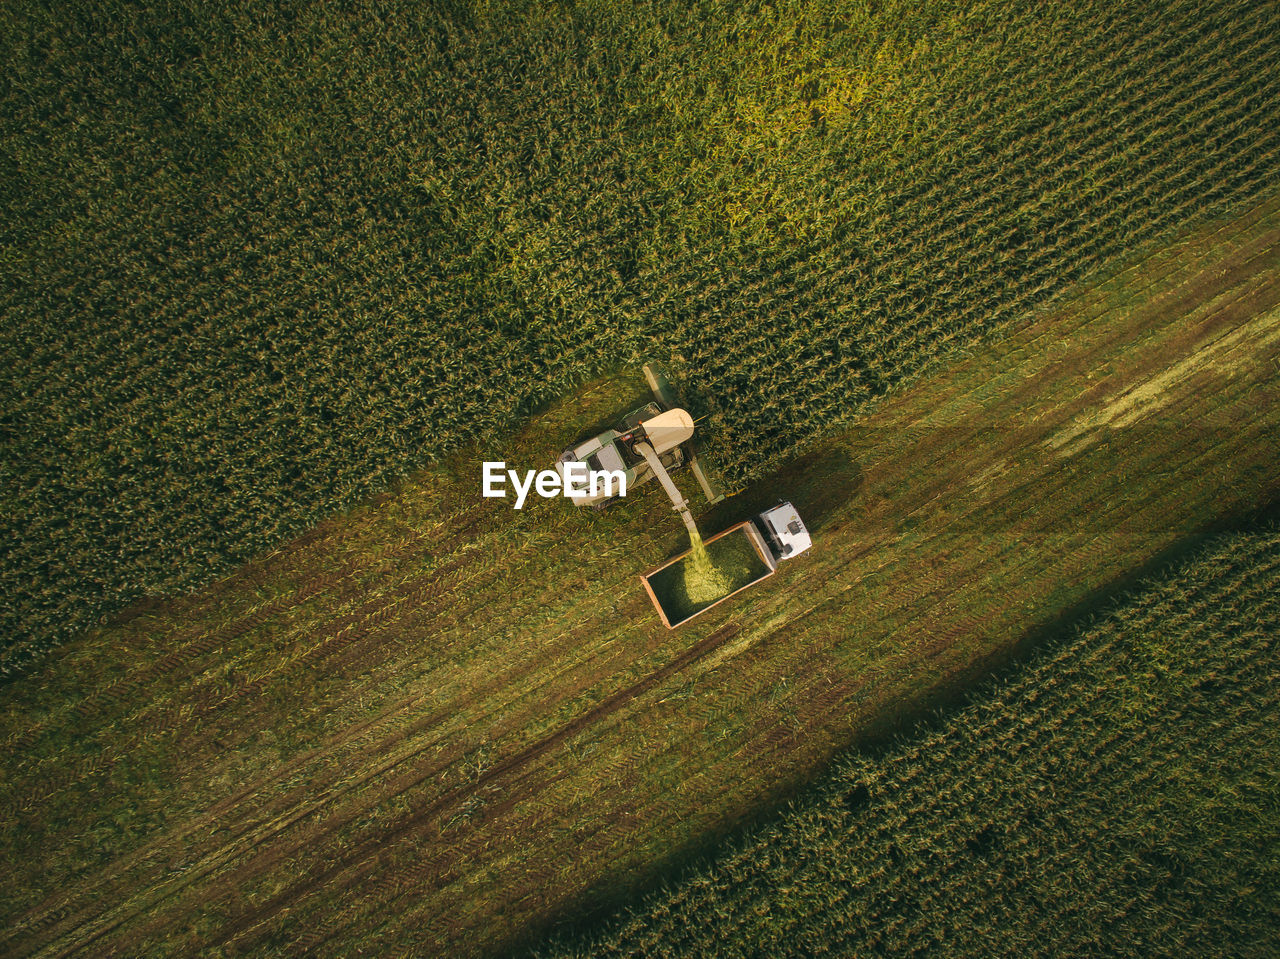
<instances>
[{"instance_id":1,"label":"harvested brownish-green strip with tyre tracks between the standing crops","mask_svg":"<svg viewBox=\"0 0 1280 959\"><path fill-rule=\"evenodd\" d=\"M617 388L520 448L558 448ZM1272 502L1277 399L1272 201L718 507L709 531L792 498L820 517L815 549L673 633L635 579L678 545L659 497L513 513L468 461L408 484L19 693L0 808L27 846L0 951L480 954L623 895L886 716Z\"/></svg>"}]
</instances>

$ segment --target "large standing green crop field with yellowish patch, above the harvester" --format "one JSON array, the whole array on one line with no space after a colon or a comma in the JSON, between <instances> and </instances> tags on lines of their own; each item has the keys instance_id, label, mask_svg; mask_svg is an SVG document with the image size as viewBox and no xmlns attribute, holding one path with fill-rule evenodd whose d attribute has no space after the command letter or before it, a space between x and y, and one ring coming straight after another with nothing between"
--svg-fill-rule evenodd
<instances>
[{"instance_id":1,"label":"large standing green crop field with yellowish patch, above the harvester","mask_svg":"<svg viewBox=\"0 0 1280 959\"><path fill-rule=\"evenodd\" d=\"M6 19L6 673L641 353L744 481L1277 179L1249 0Z\"/></svg>"}]
</instances>

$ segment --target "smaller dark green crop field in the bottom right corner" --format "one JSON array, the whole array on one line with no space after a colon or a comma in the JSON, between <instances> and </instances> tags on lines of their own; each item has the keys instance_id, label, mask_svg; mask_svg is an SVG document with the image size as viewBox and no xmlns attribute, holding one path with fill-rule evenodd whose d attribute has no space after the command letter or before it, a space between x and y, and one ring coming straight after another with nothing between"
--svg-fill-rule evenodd
<instances>
[{"instance_id":1,"label":"smaller dark green crop field in the bottom right corner","mask_svg":"<svg viewBox=\"0 0 1280 959\"><path fill-rule=\"evenodd\" d=\"M1280 528L544 956L1231 955L1280 936Z\"/></svg>"}]
</instances>

